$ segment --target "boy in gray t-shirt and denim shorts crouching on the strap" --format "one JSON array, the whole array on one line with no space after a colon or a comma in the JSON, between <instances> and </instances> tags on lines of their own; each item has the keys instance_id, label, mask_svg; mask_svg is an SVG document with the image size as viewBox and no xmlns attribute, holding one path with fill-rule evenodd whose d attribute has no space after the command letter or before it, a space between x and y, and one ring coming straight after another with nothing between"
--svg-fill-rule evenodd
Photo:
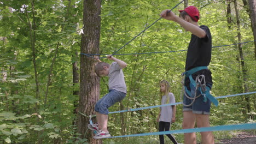
<instances>
[{"instance_id":1,"label":"boy in gray t-shirt and denim shorts crouching on the strap","mask_svg":"<svg viewBox=\"0 0 256 144\"><path fill-rule=\"evenodd\" d=\"M95 72L98 76L108 76L109 93L104 95L95 105L96 117L98 124L88 124L88 128L96 130L97 134L94 139L102 139L104 137L110 137L107 129L108 124L108 107L123 100L126 95L126 85L124 79L123 68L127 64L120 59L107 56L108 59L114 61L112 64L101 62L98 57L98 63L95 65Z\"/></svg>"}]
</instances>

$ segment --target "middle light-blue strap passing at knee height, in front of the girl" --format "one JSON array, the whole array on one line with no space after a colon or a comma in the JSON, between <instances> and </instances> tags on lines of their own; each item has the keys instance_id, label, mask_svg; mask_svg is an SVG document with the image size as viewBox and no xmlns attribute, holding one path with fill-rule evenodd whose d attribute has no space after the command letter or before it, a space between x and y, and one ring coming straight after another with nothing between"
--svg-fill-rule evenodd
<instances>
[{"instance_id":1,"label":"middle light-blue strap passing at knee height, in front of the girl","mask_svg":"<svg viewBox=\"0 0 256 144\"><path fill-rule=\"evenodd\" d=\"M255 92L248 92L248 93L239 93L239 94L232 94L232 95L225 95L225 96L221 96L221 97L217 97L216 99L220 99L220 98L228 98L228 97L235 97L238 95L246 95L246 94L253 94L256 93ZM120 112L129 112L129 111L138 111L138 110L146 110L146 109L153 109L156 107L163 107L163 106L169 106L169 105L178 105L178 104L182 104L181 102L178 103L171 103L171 104L164 104L164 105L154 105L154 106L147 106L147 107L139 107L137 109L128 109L128 110L121 110L121 111L112 111L109 112L110 113L120 113Z\"/></svg>"}]
</instances>

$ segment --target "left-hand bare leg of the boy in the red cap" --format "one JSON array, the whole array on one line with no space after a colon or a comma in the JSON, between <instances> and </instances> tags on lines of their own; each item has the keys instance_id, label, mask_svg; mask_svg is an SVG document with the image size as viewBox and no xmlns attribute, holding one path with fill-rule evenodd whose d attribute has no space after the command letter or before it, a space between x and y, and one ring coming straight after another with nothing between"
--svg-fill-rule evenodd
<instances>
[{"instance_id":1,"label":"left-hand bare leg of the boy in the red cap","mask_svg":"<svg viewBox=\"0 0 256 144\"><path fill-rule=\"evenodd\" d=\"M195 115L192 111L183 111L183 129L191 129L195 127ZM195 133L185 133L184 134L185 144L196 144L196 134Z\"/></svg>"}]
</instances>

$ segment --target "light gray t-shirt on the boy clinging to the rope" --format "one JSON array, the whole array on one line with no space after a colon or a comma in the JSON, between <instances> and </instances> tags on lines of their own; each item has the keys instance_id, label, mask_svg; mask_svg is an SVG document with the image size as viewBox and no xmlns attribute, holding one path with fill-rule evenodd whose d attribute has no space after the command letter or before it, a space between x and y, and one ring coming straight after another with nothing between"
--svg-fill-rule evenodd
<instances>
[{"instance_id":1,"label":"light gray t-shirt on the boy clinging to the rope","mask_svg":"<svg viewBox=\"0 0 256 144\"><path fill-rule=\"evenodd\" d=\"M108 77L109 77L109 80L108 80L109 89L115 89L119 92L126 93L124 73L117 62L113 62L110 65Z\"/></svg>"}]
</instances>

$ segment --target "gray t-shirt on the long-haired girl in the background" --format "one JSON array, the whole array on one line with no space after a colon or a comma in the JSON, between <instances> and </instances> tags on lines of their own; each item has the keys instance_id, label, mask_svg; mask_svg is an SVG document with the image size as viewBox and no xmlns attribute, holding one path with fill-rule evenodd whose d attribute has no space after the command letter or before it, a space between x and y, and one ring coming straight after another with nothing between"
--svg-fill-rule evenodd
<instances>
[{"instance_id":1,"label":"gray t-shirt on the long-haired girl in the background","mask_svg":"<svg viewBox=\"0 0 256 144\"><path fill-rule=\"evenodd\" d=\"M175 97L173 93L169 93L168 97L170 97L169 104L175 103ZM161 105L166 104L166 98L167 98L166 95L162 96ZM162 122L171 123L172 122L172 105L162 106L160 107L160 109L161 109L161 115L159 118L159 122L162 121Z\"/></svg>"}]
</instances>

